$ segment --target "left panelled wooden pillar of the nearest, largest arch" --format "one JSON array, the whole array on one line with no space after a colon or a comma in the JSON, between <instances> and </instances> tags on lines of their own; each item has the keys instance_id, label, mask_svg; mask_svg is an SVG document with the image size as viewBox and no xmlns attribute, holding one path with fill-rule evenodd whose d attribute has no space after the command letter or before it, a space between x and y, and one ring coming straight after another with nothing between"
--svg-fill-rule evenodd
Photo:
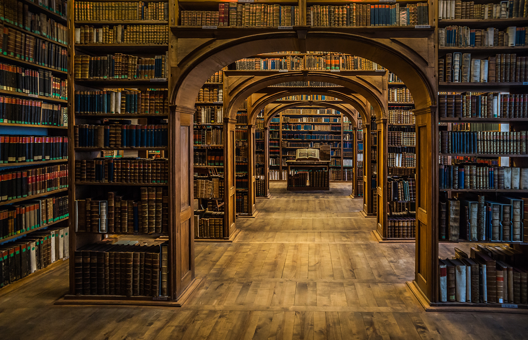
<instances>
[{"instance_id":1,"label":"left panelled wooden pillar of the nearest, largest arch","mask_svg":"<svg viewBox=\"0 0 528 340\"><path fill-rule=\"evenodd\" d=\"M194 280L193 115L194 108L171 108L168 117L169 285L177 300Z\"/></svg>"}]
</instances>

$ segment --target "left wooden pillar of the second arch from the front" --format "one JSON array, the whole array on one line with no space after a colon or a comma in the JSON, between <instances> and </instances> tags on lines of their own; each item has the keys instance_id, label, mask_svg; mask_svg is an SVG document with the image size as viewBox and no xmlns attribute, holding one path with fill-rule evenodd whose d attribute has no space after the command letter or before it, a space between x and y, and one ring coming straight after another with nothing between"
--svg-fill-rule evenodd
<instances>
[{"instance_id":1,"label":"left wooden pillar of the second arch from the front","mask_svg":"<svg viewBox=\"0 0 528 340\"><path fill-rule=\"evenodd\" d=\"M237 119L224 117L224 235L233 235L236 226L236 183L235 183L235 123Z\"/></svg>"}]
</instances>

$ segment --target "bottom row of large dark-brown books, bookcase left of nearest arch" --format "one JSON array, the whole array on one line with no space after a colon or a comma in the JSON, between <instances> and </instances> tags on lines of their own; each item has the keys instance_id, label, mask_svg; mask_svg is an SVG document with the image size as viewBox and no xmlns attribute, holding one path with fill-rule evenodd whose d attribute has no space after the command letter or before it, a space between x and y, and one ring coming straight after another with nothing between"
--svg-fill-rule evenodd
<instances>
[{"instance_id":1,"label":"bottom row of large dark-brown books, bookcase left of nearest arch","mask_svg":"<svg viewBox=\"0 0 528 340\"><path fill-rule=\"evenodd\" d=\"M167 296L167 243L103 242L74 252L76 295Z\"/></svg>"}]
</instances>

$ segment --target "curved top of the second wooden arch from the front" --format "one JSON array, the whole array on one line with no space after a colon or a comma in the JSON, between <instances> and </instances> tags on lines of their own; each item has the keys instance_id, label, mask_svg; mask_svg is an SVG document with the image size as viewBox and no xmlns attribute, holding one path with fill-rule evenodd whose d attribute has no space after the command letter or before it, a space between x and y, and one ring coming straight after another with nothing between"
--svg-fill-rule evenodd
<instances>
[{"instance_id":1,"label":"curved top of the second wooden arch from the front","mask_svg":"<svg viewBox=\"0 0 528 340\"><path fill-rule=\"evenodd\" d=\"M267 77L239 76L233 77L233 79L228 77L228 88L226 89L224 87L224 112L227 117L236 117L238 108L246 98L255 92L262 91L275 84L290 81L321 81L341 86L341 88L336 87L336 90L341 90L341 93L358 93L373 106L374 112L376 112L378 118L383 118L387 115L386 104L388 98L386 96L386 85L380 76L385 74L385 72L380 72L380 75L377 76L365 75L363 77L344 77L330 72L310 71L308 73L294 71L269 75ZM226 99L228 99L227 105L225 104Z\"/></svg>"}]
</instances>

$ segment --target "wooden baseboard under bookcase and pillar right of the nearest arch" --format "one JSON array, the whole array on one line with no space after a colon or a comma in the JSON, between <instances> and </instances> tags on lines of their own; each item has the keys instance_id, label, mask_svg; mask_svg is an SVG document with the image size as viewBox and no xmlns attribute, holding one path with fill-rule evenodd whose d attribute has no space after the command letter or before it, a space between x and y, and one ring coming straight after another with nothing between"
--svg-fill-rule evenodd
<instances>
[{"instance_id":1,"label":"wooden baseboard under bookcase and pillar right of the nearest arch","mask_svg":"<svg viewBox=\"0 0 528 340\"><path fill-rule=\"evenodd\" d=\"M412 291L412 294L418 299L420 305L426 311L446 311L449 313L468 311L471 313L512 313L512 314L528 314L528 307L526 305L514 304L472 304L472 303L431 303L423 294L415 281L407 281L407 286ZM504 307L503 307L504 306Z\"/></svg>"}]
</instances>

